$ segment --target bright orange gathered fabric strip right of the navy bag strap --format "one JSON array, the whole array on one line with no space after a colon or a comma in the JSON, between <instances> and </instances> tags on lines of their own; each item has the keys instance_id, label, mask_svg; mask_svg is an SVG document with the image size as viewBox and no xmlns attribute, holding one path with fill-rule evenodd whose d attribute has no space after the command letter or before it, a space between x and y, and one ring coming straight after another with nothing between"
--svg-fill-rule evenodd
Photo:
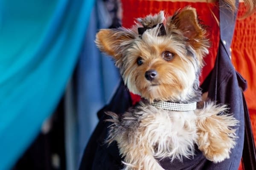
<instances>
[{"instance_id":1,"label":"bright orange gathered fabric strip right of the navy bag strap","mask_svg":"<svg viewBox=\"0 0 256 170\"><path fill-rule=\"evenodd\" d=\"M244 14L244 3L239 4L238 16ZM232 49L232 63L236 70L247 80L244 92L250 113L250 121L256 142L256 13L244 20L236 20Z\"/></svg>"}]
</instances>

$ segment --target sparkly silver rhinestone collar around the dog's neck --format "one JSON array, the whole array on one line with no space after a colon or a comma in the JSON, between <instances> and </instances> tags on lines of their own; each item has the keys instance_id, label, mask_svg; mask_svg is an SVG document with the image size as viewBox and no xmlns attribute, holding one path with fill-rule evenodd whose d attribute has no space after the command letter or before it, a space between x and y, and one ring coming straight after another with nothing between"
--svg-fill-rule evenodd
<instances>
[{"instance_id":1,"label":"sparkly silver rhinestone collar around the dog's neck","mask_svg":"<svg viewBox=\"0 0 256 170\"><path fill-rule=\"evenodd\" d=\"M172 102L154 102L152 105L169 111L194 111L196 102L194 103L172 103Z\"/></svg>"}]
</instances>

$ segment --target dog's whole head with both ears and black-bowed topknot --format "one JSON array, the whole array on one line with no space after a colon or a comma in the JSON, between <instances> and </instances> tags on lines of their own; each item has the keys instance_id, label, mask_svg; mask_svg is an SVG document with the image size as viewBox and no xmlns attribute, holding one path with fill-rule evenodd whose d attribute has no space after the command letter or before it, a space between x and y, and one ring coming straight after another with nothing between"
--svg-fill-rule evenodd
<instances>
[{"instance_id":1,"label":"dog's whole head with both ears and black-bowed topknot","mask_svg":"<svg viewBox=\"0 0 256 170\"><path fill-rule=\"evenodd\" d=\"M167 19L160 11L137 21L131 29L102 29L96 35L97 46L113 57L128 89L150 102L198 95L209 43L195 9L183 8Z\"/></svg>"}]
</instances>

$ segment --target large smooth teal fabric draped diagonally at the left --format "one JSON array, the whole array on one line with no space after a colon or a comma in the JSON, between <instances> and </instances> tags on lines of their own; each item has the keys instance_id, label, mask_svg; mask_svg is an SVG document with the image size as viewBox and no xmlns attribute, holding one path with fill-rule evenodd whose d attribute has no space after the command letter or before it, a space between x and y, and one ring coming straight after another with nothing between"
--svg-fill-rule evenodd
<instances>
[{"instance_id":1,"label":"large smooth teal fabric draped diagonally at the left","mask_svg":"<svg viewBox=\"0 0 256 170\"><path fill-rule=\"evenodd\" d=\"M54 111L72 75L94 0L0 0L0 170Z\"/></svg>"}]
</instances>

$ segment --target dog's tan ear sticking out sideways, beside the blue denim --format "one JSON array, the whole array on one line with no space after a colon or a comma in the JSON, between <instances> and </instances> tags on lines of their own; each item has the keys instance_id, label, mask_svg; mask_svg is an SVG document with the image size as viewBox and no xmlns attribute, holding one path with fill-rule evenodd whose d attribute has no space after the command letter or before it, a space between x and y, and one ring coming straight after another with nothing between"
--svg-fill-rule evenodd
<instances>
[{"instance_id":1,"label":"dog's tan ear sticking out sideways, beside the blue denim","mask_svg":"<svg viewBox=\"0 0 256 170\"><path fill-rule=\"evenodd\" d=\"M122 52L131 45L131 40L134 38L132 32L125 28L101 29L96 34L95 42L100 51L111 55L116 66L120 68L122 66Z\"/></svg>"}]
</instances>

